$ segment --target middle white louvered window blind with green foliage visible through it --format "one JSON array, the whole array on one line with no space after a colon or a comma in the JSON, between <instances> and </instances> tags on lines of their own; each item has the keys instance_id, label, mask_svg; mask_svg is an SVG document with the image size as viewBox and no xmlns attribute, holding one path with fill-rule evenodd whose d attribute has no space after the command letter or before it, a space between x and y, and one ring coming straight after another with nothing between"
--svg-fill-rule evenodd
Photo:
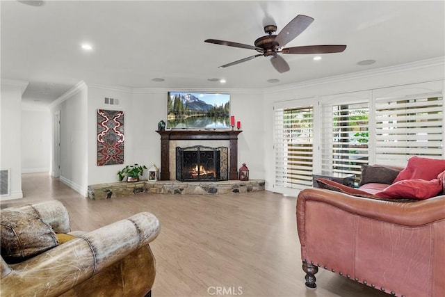
<instances>
[{"instance_id":1,"label":"middle white louvered window blind with green foliage visible through it","mask_svg":"<svg viewBox=\"0 0 445 297\"><path fill-rule=\"evenodd\" d=\"M321 169L355 174L369 160L369 103L324 104Z\"/></svg>"}]
</instances>

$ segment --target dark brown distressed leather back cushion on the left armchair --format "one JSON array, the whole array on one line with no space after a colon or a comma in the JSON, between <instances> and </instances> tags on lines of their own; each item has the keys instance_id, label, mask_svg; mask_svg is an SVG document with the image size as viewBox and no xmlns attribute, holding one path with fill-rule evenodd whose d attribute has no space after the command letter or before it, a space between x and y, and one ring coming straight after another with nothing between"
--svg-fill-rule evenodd
<instances>
[{"instance_id":1,"label":"dark brown distressed leather back cushion on the left armchair","mask_svg":"<svg viewBox=\"0 0 445 297\"><path fill-rule=\"evenodd\" d=\"M1 211L1 257L8 263L25 259L58 245L56 233L37 216L19 211Z\"/></svg>"}]
</instances>

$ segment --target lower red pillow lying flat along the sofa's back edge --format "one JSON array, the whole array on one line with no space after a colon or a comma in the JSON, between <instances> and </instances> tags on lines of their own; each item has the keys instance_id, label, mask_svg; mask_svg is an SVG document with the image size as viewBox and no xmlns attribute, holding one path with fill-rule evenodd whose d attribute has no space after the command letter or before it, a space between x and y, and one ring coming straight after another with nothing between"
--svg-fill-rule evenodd
<instances>
[{"instance_id":1,"label":"lower red pillow lying flat along the sofa's back edge","mask_svg":"<svg viewBox=\"0 0 445 297\"><path fill-rule=\"evenodd\" d=\"M385 190L375 193L377 198L406 198L425 200L442 192L439 179L405 179L391 184Z\"/></svg>"}]
</instances>

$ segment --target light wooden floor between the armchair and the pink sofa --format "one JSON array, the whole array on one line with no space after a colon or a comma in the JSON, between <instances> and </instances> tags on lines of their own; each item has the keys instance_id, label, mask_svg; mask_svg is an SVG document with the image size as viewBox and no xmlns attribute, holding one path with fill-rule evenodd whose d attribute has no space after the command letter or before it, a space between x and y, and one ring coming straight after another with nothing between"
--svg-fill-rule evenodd
<instances>
[{"instance_id":1,"label":"light wooden floor between the armchair and the pink sofa","mask_svg":"<svg viewBox=\"0 0 445 297\"><path fill-rule=\"evenodd\" d=\"M22 188L23 199L1 208L60 200L72 230L94 230L140 211L155 214L161 234L150 244L157 266L152 296L388 296L324 269L316 274L318 288L306 289L295 197L262 191L90 200L41 173L23 175Z\"/></svg>"}]
</instances>

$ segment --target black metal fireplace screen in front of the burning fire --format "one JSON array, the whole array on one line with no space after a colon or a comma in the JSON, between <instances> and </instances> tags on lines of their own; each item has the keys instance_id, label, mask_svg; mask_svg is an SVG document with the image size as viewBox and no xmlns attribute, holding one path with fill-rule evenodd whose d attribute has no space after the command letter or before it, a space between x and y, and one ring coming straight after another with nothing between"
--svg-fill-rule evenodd
<instances>
[{"instance_id":1,"label":"black metal fireplace screen in front of the burning fire","mask_svg":"<svg viewBox=\"0 0 445 297\"><path fill-rule=\"evenodd\" d=\"M228 179L227 147L176 147L176 179L181 182Z\"/></svg>"}]
</instances>

